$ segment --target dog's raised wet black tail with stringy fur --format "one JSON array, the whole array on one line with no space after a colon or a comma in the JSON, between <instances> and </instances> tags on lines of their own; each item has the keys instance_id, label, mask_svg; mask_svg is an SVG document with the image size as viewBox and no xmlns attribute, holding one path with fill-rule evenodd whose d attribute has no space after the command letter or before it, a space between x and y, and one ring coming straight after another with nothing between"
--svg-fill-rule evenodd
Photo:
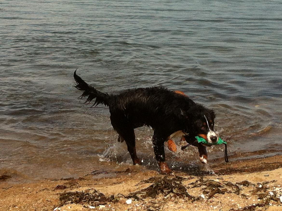
<instances>
[{"instance_id":1,"label":"dog's raised wet black tail with stringy fur","mask_svg":"<svg viewBox=\"0 0 282 211\"><path fill-rule=\"evenodd\" d=\"M106 106L109 106L110 95L108 95L107 93L99 92L93 86L87 84L85 81L81 79L81 77L76 75L76 70L74 71L73 77L74 80L76 81L76 85L74 87L77 88L78 90L83 91L80 97L83 98L88 96L87 100L84 103L88 103L92 101L94 98L96 98L95 103L92 106L96 106L98 104L104 104Z\"/></svg>"}]
</instances>

